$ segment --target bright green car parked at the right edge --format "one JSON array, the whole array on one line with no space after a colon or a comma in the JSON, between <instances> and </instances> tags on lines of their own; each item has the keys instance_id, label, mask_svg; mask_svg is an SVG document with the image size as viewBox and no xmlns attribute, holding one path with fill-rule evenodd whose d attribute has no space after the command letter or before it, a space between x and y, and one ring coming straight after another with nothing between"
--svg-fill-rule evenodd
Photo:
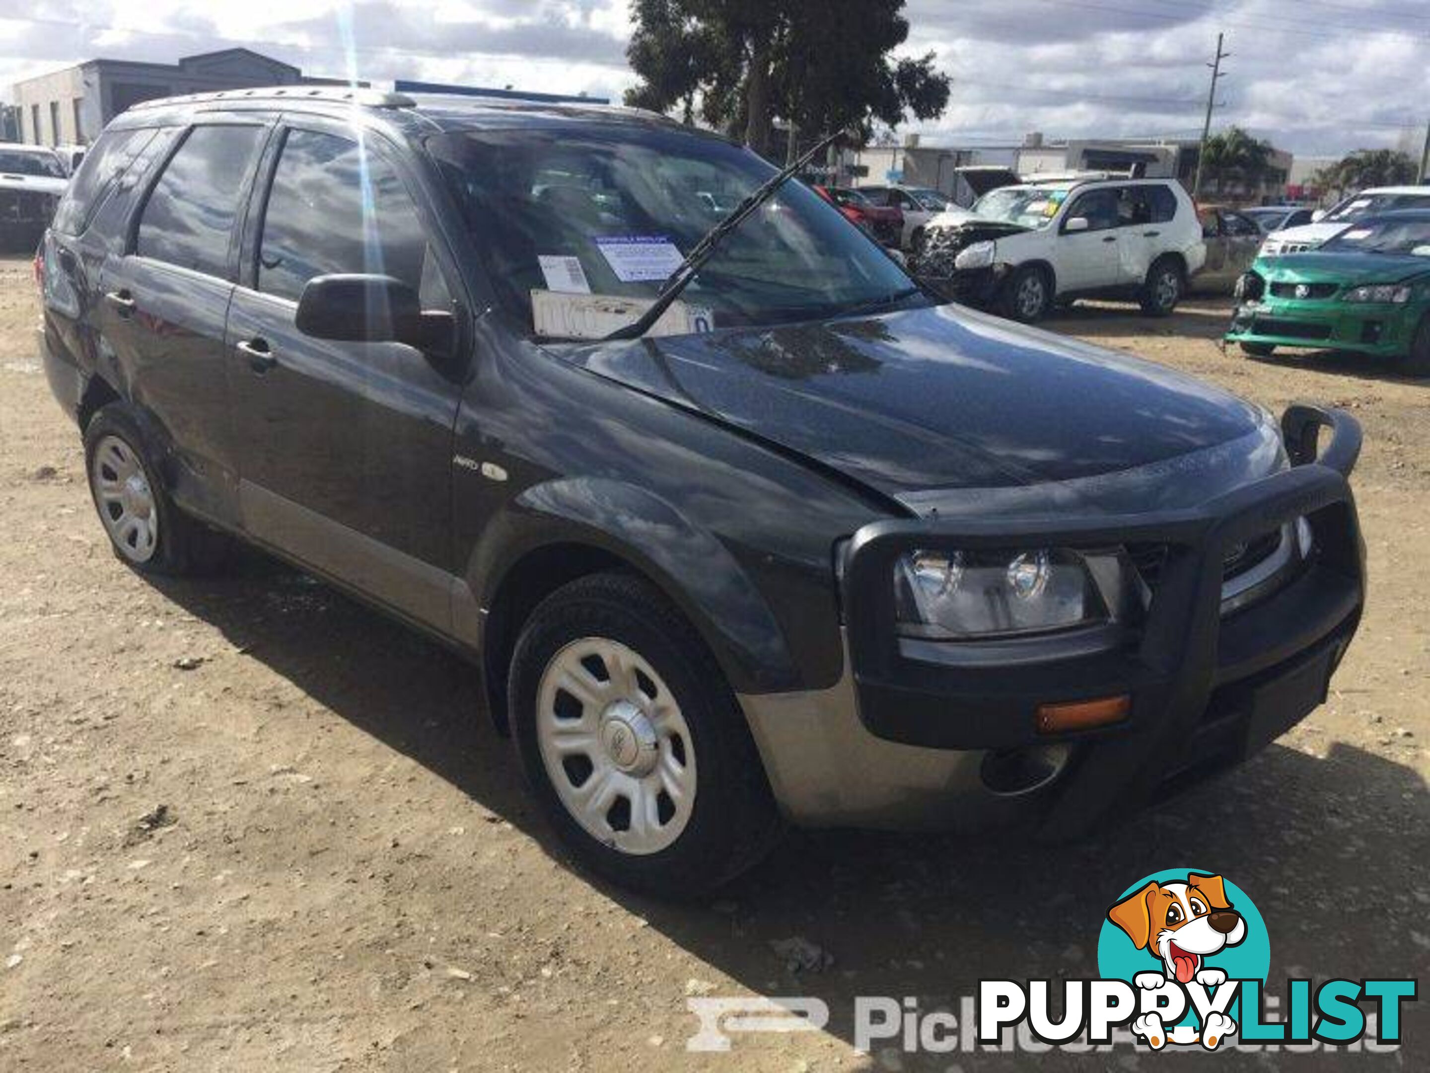
<instances>
[{"instance_id":1,"label":"bright green car parked at the right edge","mask_svg":"<svg viewBox=\"0 0 1430 1073\"><path fill-rule=\"evenodd\" d=\"M1227 342L1393 358L1430 376L1430 210L1357 220L1314 253L1258 258L1237 280Z\"/></svg>"}]
</instances>

